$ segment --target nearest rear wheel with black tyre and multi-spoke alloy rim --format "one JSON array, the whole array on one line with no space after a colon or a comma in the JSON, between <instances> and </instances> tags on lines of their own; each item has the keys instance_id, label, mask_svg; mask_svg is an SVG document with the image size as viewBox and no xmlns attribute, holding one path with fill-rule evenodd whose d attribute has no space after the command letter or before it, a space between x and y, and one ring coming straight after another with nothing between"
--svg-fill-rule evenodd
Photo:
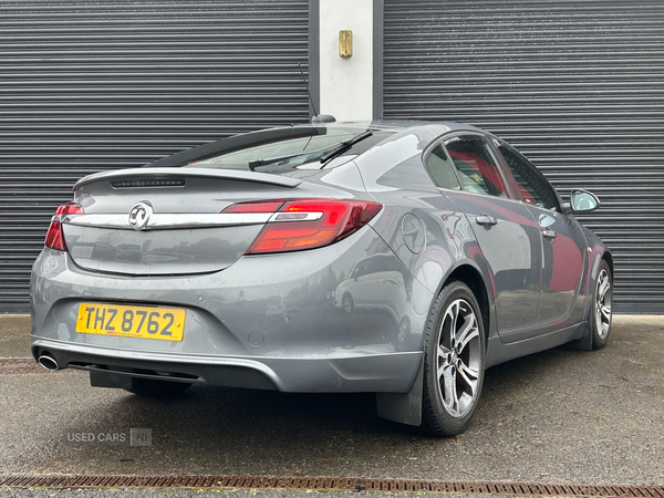
<instances>
[{"instance_id":1,"label":"nearest rear wheel with black tyre and multi-spoke alloy rim","mask_svg":"<svg viewBox=\"0 0 664 498\"><path fill-rule=\"evenodd\" d=\"M481 393L485 330L473 291L452 281L429 314L424 341L423 426L454 436L468 425Z\"/></svg>"}]
</instances>

